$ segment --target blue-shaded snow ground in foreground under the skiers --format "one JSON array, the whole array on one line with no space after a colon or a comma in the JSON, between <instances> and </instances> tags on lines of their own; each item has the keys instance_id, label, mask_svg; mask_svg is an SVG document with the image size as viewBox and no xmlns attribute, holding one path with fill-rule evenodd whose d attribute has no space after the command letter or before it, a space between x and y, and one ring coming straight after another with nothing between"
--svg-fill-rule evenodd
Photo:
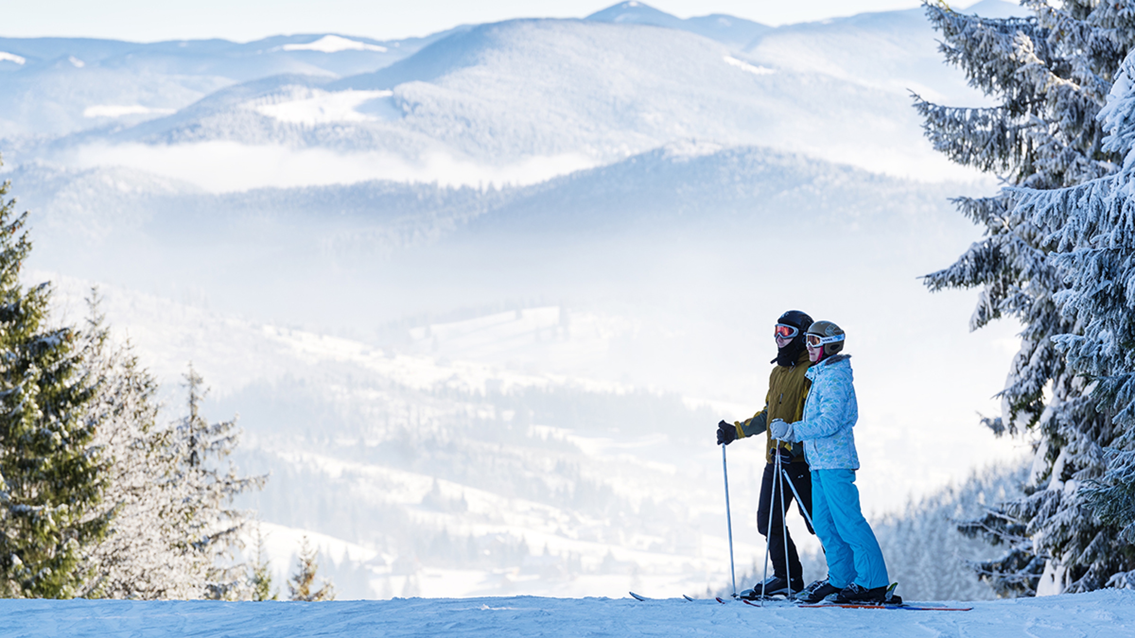
<instances>
[{"instance_id":1,"label":"blue-shaded snow ground in foreground under the skiers","mask_svg":"<svg viewBox=\"0 0 1135 638\"><path fill-rule=\"evenodd\" d=\"M631 598L335 603L0 601L5 636L1135 636L1135 591L967 603L968 612L757 608Z\"/></svg>"}]
</instances>

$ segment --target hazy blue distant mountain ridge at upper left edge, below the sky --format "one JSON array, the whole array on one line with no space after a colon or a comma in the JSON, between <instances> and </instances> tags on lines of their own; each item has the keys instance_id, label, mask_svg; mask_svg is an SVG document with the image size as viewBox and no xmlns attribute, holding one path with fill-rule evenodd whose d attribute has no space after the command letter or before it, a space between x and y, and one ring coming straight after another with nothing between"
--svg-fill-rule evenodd
<instances>
[{"instance_id":1,"label":"hazy blue distant mountain ridge at upper left edge, below the sky","mask_svg":"<svg viewBox=\"0 0 1135 638\"><path fill-rule=\"evenodd\" d=\"M176 112L225 86L272 75L369 72L449 33L381 42L338 34L247 43L0 37L0 138L129 126Z\"/></svg>"}]
</instances>

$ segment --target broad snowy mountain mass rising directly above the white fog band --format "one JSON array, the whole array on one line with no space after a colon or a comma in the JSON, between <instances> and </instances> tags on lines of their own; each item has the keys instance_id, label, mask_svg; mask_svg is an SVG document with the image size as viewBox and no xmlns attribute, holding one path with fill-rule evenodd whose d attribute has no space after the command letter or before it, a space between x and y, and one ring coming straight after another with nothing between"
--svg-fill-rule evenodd
<instances>
[{"instance_id":1,"label":"broad snowy mountain mass rising directly above the white fog band","mask_svg":"<svg viewBox=\"0 0 1135 638\"><path fill-rule=\"evenodd\" d=\"M188 167L209 174L195 182L213 191L283 179L476 185L537 183L693 137L924 179L970 175L933 152L909 108L908 89L982 101L941 64L918 11L767 30L743 51L684 22L653 26L667 20L645 6L600 14L478 25L338 78L289 69L135 126L26 142L20 158L166 176ZM301 53L325 54L279 52ZM335 56L371 53L389 56ZM227 161L280 161L266 149L294 166L234 182Z\"/></svg>"}]
</instances>

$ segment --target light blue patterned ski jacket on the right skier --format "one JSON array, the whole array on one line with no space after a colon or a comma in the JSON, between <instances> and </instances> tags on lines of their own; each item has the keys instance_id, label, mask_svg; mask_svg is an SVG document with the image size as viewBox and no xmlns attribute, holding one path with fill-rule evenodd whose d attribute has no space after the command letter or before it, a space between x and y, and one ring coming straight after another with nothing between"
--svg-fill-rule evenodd
<instances>
[{"instance_id":1,"label":"light blue patterned ski jacket on the right skier","mask_svg":"<svg viewBox=\"0 0 1135 638\"><path fill-rule=\"evenodd\" d=\"M849 359L836 354L808 368L812 389L801 420L792 423L792 440L804 442L804 454L813 470L859 469L851 431L859 419L859 406Z\"/></svg>"}]
</instances>

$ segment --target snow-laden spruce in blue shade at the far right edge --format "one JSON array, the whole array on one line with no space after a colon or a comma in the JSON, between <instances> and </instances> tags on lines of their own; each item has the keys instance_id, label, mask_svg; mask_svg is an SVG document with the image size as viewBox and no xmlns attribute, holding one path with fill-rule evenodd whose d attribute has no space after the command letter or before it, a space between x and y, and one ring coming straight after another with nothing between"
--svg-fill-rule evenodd
<instances>
[{"instance_id":1,"label":"snow-laden spruce in blue shade at the far right edge","mask_svg":"<svg viewBox=\"0 0 1135 638\"><path fill-rule=\"evenodd\" d=\"M1084 433L1092 436L1070 440L1061 452L1091 462L1075 473L1053 469L1050 489L1084 501L1102 522L1093 521L1096 535L1084 549L1088 569L1109 586L1135 588L1135 51L1123 61L1099 119L1108 134L1103 150L1125 158L1118 174L1052 191L1012 188L1009 195L1014 215L1054 246L1050 261L1068 284L1057 301L1082 334L1053 341L1091 384L1090 396L1107 417L1099 431Z\"/></svg>"}]
</instances>

